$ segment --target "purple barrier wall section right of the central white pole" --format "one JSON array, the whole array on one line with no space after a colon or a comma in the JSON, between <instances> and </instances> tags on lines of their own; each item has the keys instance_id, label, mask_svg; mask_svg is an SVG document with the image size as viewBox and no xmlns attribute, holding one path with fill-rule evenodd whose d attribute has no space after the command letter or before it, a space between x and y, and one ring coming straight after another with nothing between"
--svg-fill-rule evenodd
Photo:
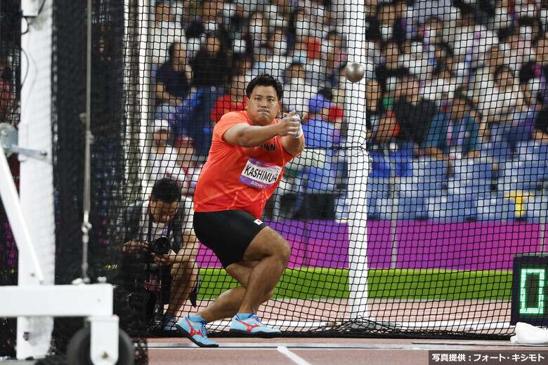
<instances>
[{"instance_id":1,"label":"purple barrier wall section right of the central white pole","mask_svg":"<svg viewBox=\"0 0 548 365\"><path fill-rule=\"evenodd\" d=\"M391 223L367 222L370 268L391 267ZM402 221L396 225L400 269L510 270L518 252L542 251L540 225Z\"/></svg>"}]
</instances>

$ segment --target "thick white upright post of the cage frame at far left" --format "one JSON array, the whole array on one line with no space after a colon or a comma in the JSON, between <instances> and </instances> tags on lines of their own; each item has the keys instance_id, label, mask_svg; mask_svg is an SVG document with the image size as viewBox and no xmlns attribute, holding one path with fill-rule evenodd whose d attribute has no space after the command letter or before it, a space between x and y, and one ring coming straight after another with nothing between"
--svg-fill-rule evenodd
<instances>
[{"instance_id":1,"label":"thick white upright post of the cage frame at far left","mask_svg":"<svg viewBox=\"0 0 548 365\"><path fill-rule=\"evenodd\" d=\"M37 2L23 0L22 3L28 5ZM21 48L24 52L21 56L21 74L24 84L21 93L19 145L32 150L44 150L47 152L47 159L44 161L20 155L20 202L46 285L55 282L55 217L51 165L52 6L53 0L45 0L38 16L31 18L28 25L25 21L21 25ZM19 286L39 284L36 277L27 273L29 268L32 268L32 258L25 251L20 251ZM19 317L18 359L47 354L51 345L51 331L52 317Z\"/></svg>"}]
</instances>

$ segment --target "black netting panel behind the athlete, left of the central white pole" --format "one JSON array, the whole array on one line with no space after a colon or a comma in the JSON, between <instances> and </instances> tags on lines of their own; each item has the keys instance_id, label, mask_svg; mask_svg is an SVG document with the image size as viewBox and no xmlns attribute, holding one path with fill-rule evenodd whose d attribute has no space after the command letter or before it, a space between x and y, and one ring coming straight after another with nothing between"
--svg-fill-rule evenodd
<instances>
[{"instance_id":1,"label":"black netting panel behind the athlete, left of the central white pole","mask_svg":"<svg viewBox=\"0 0 548 365\"><path fill-rule=\"evenodd\" d=\"M141 58L144 77L138 79L145 91L141 115L147 118L141 119L139 131L145 192L127 202L131 211L138 204L141 213L139 221L125 217L125 230L132 230L124 237L127 245L131 239L150 241L162 235L164 225L148 234L152 204L148 194L157 180L176 180L185 204L193 201L214 127L224 114L246 109L246 86L254 77L267 73L278 79L284 86L280 117L296 110L303 119L310 144L301 157L287 164L261 218L292 245L292 259L273 298L258 308L263 321L281 326L288 336L344 333L324 330L332 329L326 324L350 319L346 191L351 147L344 145L350 128L346 110L351 105L344 100L347 82L341 72L348 61L348 42L364 28L363 24L353 27L355 34L349 36L345 17L344 6L327 3L156 1L144 14L149 21L142 31L148 32L148 41L138 45L148 55ZM363 98L360 102L358 110L365 110ZM359 133L361 121L352 128ZM273 151L275 146L266 143L260 148ZM365 155L363 145L354 150ZM364 211L365 201L362 204L353 212ZM191 209L185 213L192 215ZM184 232L192 223L183 220L177 227ZM198 244L197 252L191 251L192 239L174 240L179 252L180 246L185 249L182 265L178 271L171 269L171 285L162 283L162 288L171 286L171 299L161 326L150 328L152 335L176 335L171 316L179 319L201 312L223 291L237 286L209 248ZM200 290L193 307L190 290L198 268ZM157 269L146 275L155 284L158 278L162 281ZM159 292L156 285L146 285ZM181 299L174 303L179 293ZM209 324L212 336L226 336L227 324Z\"/></svg>"}]
</instances>

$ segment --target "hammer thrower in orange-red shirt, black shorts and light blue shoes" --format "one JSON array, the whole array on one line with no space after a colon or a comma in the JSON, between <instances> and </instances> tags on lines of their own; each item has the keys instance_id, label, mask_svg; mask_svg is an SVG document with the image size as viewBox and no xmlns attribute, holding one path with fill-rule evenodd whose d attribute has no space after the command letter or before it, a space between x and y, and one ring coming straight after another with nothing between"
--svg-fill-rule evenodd
<instances>
[{"instance_id":1,"label":"hammer thrower in orange-red shirt, black shorts and light blue shoes","mask_svg":"<svg viewBox=\"0 0 548 365\"><path fill-rule=\"evenodd\" d=\"M283 88L268 74L246 89L247 107L229 112L216 124L209 157L194 196L194 230L240 286L231 288L176 327L202 347L217 347L207 338L206 324L232 317L230 332L274 337L256 316L273 296L291 254L289 243L261 222L266 201L280 183L285 164L304 149L300 118L295 112L276 119Z\"/></svg>"}]
</instances>

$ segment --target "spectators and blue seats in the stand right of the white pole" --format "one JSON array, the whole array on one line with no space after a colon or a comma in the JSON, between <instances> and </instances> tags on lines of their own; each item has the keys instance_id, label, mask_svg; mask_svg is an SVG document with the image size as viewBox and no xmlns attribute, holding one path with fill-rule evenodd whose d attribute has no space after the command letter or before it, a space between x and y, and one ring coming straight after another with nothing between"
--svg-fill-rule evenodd
<instances>
[{"instance_id":1,"label":"spectators and blue seats in the stand right of the white pole","mask_svg":"<svg viewBox=\"0 0 548 365\"><path fill-rule=\"evenodd\" d=\"M423 218L443 217L443 206L454 216L455 206L465 216L459 218L476 219L480 214L470 213L476 206L502 211L512 199L514 217L525 217L518 200L526 194L523 201L540 201L545 180L548 4L370 0L366 7L367 149L373 170L379 168L372 175L389 174L381 171L385 157L411 161L393 168L402 182L396 190L400 205L414 207L402 210ZM439 194L405 185L409 175L436 179L414 171L422 165L413 161L441 163L431 165L443 166L435 170L446 182L436 185ZM473 164L477 171L463 167ZM436 202L433 211L427 201ZM370 218L377 213L373 207Z\"/></svg>"}]
</instances>

